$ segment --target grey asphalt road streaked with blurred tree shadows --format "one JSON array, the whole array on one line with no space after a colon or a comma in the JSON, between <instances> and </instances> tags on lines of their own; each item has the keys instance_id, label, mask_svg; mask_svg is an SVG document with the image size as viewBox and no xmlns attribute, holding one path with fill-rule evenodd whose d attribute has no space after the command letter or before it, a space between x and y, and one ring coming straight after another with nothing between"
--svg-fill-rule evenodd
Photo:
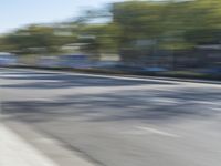
<instances>
[{"instance_id":1,"label":"grey asphalt road streaked with blurred tree shadows","mask_svg":"<svg viewBox=\"0 0 221 166\"><path fill-rule=\"evenodd\" d=\"M220 166L221 85L0 69L2 114L103 166Z\"/></svg>"}]
</instances>

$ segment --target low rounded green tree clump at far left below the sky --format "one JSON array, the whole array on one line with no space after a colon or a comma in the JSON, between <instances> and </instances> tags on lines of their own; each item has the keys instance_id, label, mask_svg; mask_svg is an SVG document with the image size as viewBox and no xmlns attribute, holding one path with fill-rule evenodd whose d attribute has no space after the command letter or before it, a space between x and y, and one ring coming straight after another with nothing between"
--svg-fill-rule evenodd
<instances>
[{"instance_id":1,"label":"low rounded green tree clump at far left below the sky","mask_svg":"<svg viewBox=\"0 0 221 166\"><path fill-rule=\"evenodd\" d=\"M53 27L30 25L1 39L1 50L20 53L55 53L75 37L57 35Z\"/></svg>"}]
</instances>

